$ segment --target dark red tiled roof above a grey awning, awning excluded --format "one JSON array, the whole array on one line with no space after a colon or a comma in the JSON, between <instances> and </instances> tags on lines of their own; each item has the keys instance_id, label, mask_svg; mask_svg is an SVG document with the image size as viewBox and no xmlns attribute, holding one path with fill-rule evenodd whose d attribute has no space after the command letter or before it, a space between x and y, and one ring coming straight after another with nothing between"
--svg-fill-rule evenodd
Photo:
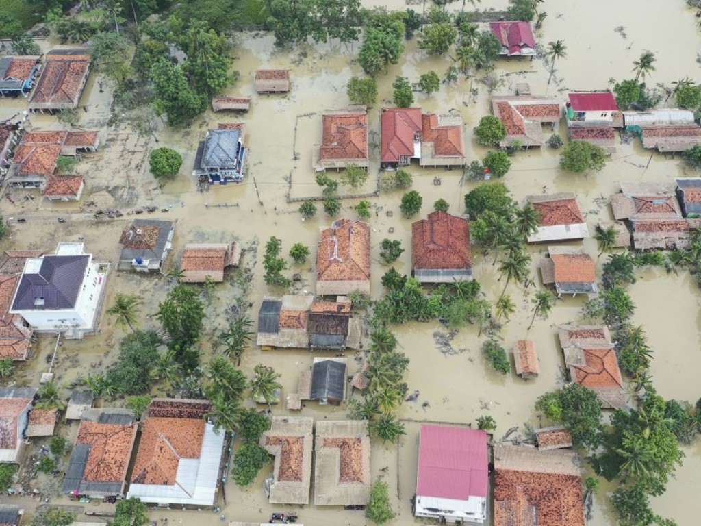
<instances>
[{"instance_id":1,"label":"dark red tiled roof above a grey awning, awning excluded","mask_svg":"<svg viewBox=\"0 0 701 526\"><path fill-rule=\"evenodd\" d=\"M470 223L436 210L411 224L414 269L471 269Z\"/></svg>"}]
</instances>

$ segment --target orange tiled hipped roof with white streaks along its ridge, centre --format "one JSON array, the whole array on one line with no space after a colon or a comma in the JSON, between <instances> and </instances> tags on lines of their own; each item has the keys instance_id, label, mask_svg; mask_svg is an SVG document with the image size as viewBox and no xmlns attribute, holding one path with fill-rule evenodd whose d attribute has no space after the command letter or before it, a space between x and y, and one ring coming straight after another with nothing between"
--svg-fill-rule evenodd
<instances>
[{"instance_id":1,"label":"orange tiled hipped roof with white streaks along its ridge, centre","mask_svg":"<svg viewBox=\"0 0 701 526\"><path fill-rule=\"evenodd\" d=\"M370 279L370 227L367 223L344 219L322 229L316 256L316 279Z\"/></svg>"}]
</instances>

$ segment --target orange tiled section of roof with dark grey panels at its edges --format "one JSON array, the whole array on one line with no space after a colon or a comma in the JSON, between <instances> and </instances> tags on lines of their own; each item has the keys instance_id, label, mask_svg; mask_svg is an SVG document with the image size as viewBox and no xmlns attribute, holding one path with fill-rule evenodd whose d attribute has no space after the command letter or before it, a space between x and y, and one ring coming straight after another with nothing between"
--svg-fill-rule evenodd
<instances>
[{"instance_id":1,"label":"orange tiled section of roof with dark grey panels at its edges","mask_svg":"<svg viewBox=\"0 0 701 526\"><path fill-rule=\"evenodd\" d=\"M136 438L137 424L100 424L82 420L76 444L90 446L83 480L117 482L124 480Z\"/></svg>"}]
</instances>

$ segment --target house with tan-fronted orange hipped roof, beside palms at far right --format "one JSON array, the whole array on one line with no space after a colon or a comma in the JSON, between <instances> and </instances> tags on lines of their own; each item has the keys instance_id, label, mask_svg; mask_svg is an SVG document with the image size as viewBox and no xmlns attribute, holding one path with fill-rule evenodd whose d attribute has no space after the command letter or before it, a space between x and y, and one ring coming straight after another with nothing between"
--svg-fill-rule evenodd
<instances>
[{"instance_id":1,"label":"house with tan-fronted orange hipped roof, beside palms at far right","mask_svg":"<svg viewBox=\"0 0 701 526\"><path fill-rule=\"evenodd\" d=\"M571 381L597 393L602 407L625 407L627 396L608 327L560 327L557 334Z\"/></svg>"}]
</instances>

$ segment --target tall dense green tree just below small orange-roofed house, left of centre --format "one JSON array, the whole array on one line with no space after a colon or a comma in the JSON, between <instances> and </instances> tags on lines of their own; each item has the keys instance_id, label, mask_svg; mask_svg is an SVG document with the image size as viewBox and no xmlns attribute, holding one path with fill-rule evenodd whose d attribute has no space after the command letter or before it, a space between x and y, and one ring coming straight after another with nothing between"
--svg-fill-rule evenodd
<instances>
[{"instance_id":1,"label":"tall dense green tree just below small orange-roofed house, left of centre","mask_svg":"<svg viewBox=\"0 0 701 526\"><path fill-rule=\"evenodd\" d=\"M198 291L179 283L158 304L156 318L168 336L168 349L175 351L176 360L186 372L193 370L198 360L193 360L186 351L199 339L205 318L204 304Z\"/></svg>"}]
</instances>

